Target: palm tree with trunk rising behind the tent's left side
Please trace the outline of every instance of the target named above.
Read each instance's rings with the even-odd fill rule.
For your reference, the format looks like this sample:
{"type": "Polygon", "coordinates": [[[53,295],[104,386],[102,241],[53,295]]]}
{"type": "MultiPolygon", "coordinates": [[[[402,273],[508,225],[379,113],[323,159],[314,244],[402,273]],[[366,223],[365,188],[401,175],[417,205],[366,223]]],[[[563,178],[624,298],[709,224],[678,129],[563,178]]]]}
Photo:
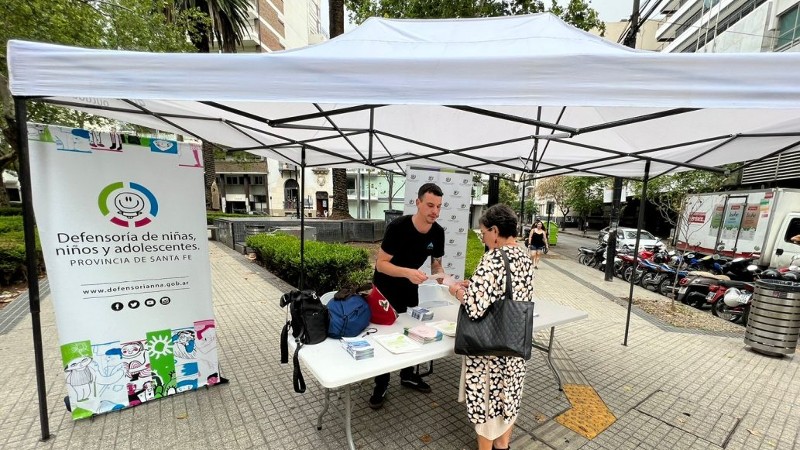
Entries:
{"type": "MultiPolygon", "coordinates": [[[[197,8],[202,13],[195,26],[197,33],[191,34],[192,44],[198,53],[211,53],[211,43],[216,42],[223,53],[236,53],[236,46],[250,27],[247,10],[248,0],[176,0],[175,8],[197,8]],[[208,17],[208,20],[204,20],[208,17]]],[[[165,10],[167,17],[170,11],[165,10]]],[[[214,161],[214,145],[203,141],[203,167],[205,167],[206,209],[211,209],[211,185],[217,177],[214,161]]]]}

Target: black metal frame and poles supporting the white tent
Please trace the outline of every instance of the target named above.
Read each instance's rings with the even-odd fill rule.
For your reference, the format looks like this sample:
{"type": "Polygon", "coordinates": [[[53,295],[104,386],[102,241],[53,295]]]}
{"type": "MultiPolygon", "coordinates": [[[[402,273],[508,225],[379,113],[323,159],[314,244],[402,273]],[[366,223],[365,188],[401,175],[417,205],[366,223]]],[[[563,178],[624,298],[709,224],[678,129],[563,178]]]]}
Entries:
{"type": "MultiPolygon", "coordinates": [[[[253,127],[251,125],[222,119],[222,118],[209,118],[204,116],[193,116],[187,114],[165,114],[165,113],[158,113],[154,111],[150,111],[147,108],[138,105],[136,102],[127,99],[120,99],[123,102],[127,103],[131,106],[130,109],[127,108],[120,108],[120,107],[110,107],[110,106],[97,106],[97,105],[87,105],[87,104],[80,104],[76,102],[70,102],[65,100],[59,100],[54,98],[48,97],[23,97],[23,96],[14,96],[14,103],[15,103],[15,114],[16,114],[16,121],[19,124],[18,128],[18,140],[19,140],[19,150],[20,150],[20,182],[21,182],[21,190],[22,190],[22,205],[23,205],[23,225],[24,225],[24,233],[25,233],[25,250],[26,250],[26,267],[28,271],[28,292],[29,292],[29,302],[30,302],[30,311],[31,311],[31,320],[33,322],[33,341],[34,341],[34,357],[36,363],[36,383],[37,383],[37,390],[39,394],[39,420],[41,425],[41,438],[42,440],[47,440],[50,436],[49,431],[49,422],[47,417],[47,399],[46,399],[46,386],[45,386],[45,378],[44,378],[44,357],[43,357],[43,350],[42,350],[42,332],[41,332],[41,319],[40,319],[40,295],[39,295],[39,285],[38,279],[35,276],[37,272],[37,255],[36,255],[36,247],[35,247],[35,234],[34,234],[34,213],[32,208],[32,198],[31,198],[31,180],[30,180],[30,162],[29,162],[29,154],[28,154],[28,141],[27,141],[27,130],[26,124],[28,119],[28,111],[27,111],[27,101],[39,101],[50,103],[57,106],[64,106],[70,108],[81,108],[84,111],[87,111],[92,114],[96,115],[103,115],[104,111],[108,112],[118,112],[118,113],[128,113],[128,114],[141,114],[146,116],[151,116],[156,118],[157,120],[161,121],[165,125],[172,127],[174,129],[178,129],[186,133],[187,135],[193,136],[197,139],[207,141],[203,138],[202,135],[198,133],[191,132],[190,130],[186,129],[185,127],[181,127],[180,125],[176,124],[171,119],[192,119],[198,121],[216,121],[226,126],[230,127],[232,130],[235,130],[237,133],[246,136],[251,141],[253,141],[253,145],[246,146],[246,147],[238,147],[238,148],[220,148],[226,152],[234,152],[234,151],[256,151],[256,150],[271,150],[275,152],[279,157],[283,158],[286,161],[290,161],[292,164],[299,166],[302,170],[302,175],[300,177],[300,189],[301,192],[305,189],[305,169],[306,168],[314,168],[314,167],[336,167],[338,163],[357,163],[368,167],[373,167],[379,170],[386,170],[398,174],[405,175],[405,172],[402,168],[402,163],[415,161],[418,162],[420,160],[429,160],[434,161],[441,165],[450,166],[452,168],[457,169],[466,169],[471,172],[488,175],[490,173],[496,173],[497,170],[491,169],[487,170],[486,166],[488,165],[490,168],[502,168],[508,172],[521,172],[523,174],[527,173],[532,175],[528,178],[522,178],[518,181],[531,181],[534,179],[542,178],[542,176],[554,176],[554,175],[569,175],[569,174],[577,174],[577,173],[585,173],[589,175],[597,175],[597,176],[613,176],[608,172],[604,172],[603,169],[614,167],[623,163],[628,163],[632,160],[641,161],[645,163],[645,170],[644,170],[644,177],[643,177],[643,186],[642,186],[642,202],[639,206],[639,220],[638,220],[638,229],[641,230],[642,224],[644,222],[644,202],[646,201],[646,187],[647,182],[650,179],[650,164],[651,162],[658,162],[658,163],[667,163],[672,166],[672,169],[668,170],[668,173],[674,171],[678,168],[687,168],[687,169],[698,169],[698,170],[706,170],[711,172],[727,172],[726,169],[721,169],[718,167],[711,167],[705,166],[701,164],[694,164],[692,161],[696,160],[700,156],[717,150],[726,144],[733,142],[737,138],[753,138],[753,137],[774,137],[774,136],[798,136],[800,137],[800,133],[748,133],[748,134],[735,134],[735,135],[722,135],[722,136],[714,136],[709,138],[704,138],[695,141],[683,142],[679,144],[674,144],[670,146],[660,147],[660,148],[650,148],[650,149],[643,149],[637,152],[632,153],[625,153],[621,151],[614,150],[612,148],[604,148],[604,147],[597,147],[597,146],[590,146],[587,144],[581,144],[577,142],[571,142],[568,140],[564,140],[563,134],[566,133],[570,137],[592,133],[601,130],[608,130],[616,127],[642,123],[651,120],[658,120],[664,117],[670,117],[675,115],[687,114],[694,111],[698,111],[696,108],[675,108],[670,110],[661,111],[658,113],[653,114],[645,114],[640,116],[633,116],[626,119],[615,120],[611,122],[604,122],[604,123],[597,123],[591,126],[585,126],[582,128],[574,128],[560,124],[561,118],[563,117],[564,111],[566,107],[563,107],[561,113],[559,114],[558,120],[556,123],[542,121],[541,117],[541,107],[539,107],[536,119],[529,119],[525,117],[515,116],[511,114],[500,113],[496,111],[491,111],[484,108],[477,108],[471,106],[456,106],[456,105],[444,105],[444,108],[450,108],[453,110],[458,110],[462,112],[467,112],[471,114],[476,114],[484,117],[493,118],[496,120],[503,120],[509,122],[515,122],[525,125],[530,125],[535,127],[535,133],[531,135],[522,135],[516,137],[509,137],[504,140],[483,143],[480,145],[474,145],[469,147],[463,148],[444,148],[441,146],[437,146],[431,143],[421,142],[415,140],[413,138],[407,136],[400,136],[394,133],[390,133],[388,131],[383,131],[380,129],[375,128],[375,115],[376,110],[380,108],[384,108],[389,105],[355,105],[355,106],[348,106],[338,109],[331,109],[331,110],[324,110],[319,104],[314,103],[313,106],[317,110],[315,113],[303,114],[303,115],[295,115],[295,116],[288,116],[288,117],[279,117],[279,118],[266,118],[256,114],[248,113],[246,111],[242,111],[240,109],[227,106],[223,103],[219,102],[212,102],[212,101],[202,101],[203,105],[218,109],[221,112],[225,112],[228,114],[234,114],[237,116],[242,117],[243,119],[253,120],[259,123],[265,124],[267,127],[271,128],[272,131],[268,129],[259,129],[253,127]],[[338,116],[355,113],[355,112],[369,112],[369,124],[363,128],[343,128],[339,127],[335,121],[338,116]],[[324,118],[330,126],[319,126],[319,125],[303,125],[303,121],[312,120],[312,119],[319,119],[324,118]],[[326,137],[317,137],[317,138],[310,138],[305,140],[296,140],[286,136],[282,136],[276,130],[280,129],[302,129],[302,130],[310,130],[310,131],[330,131],[334,134],[331,136],[326,137]],[[549,130],[549,135],[540,135],[540,130],[549,130]],[[250,132],[257,132],[262,133],[264,135],[273,137],[280,141],[283,141],[280,144],[265,144],[261,142],[255,135],[251,134],[250,132]],[[361,149],[355,145],[350,137],[357,136],[357,135],[369,135],[368,141],[368,149],[366,155],[362,152],[361,149]],[[434,154],[418,154],[412,152],[406,152],[402,154],[394,154],[389,151],[388,146],[384,142],[383,138],[390,138],[400,142],[405,142],[408,144],[418,145],[424,148],[428,148],[431,150],[435,150],[437,153],[434,154]],[[344,139],[349,146],[359,155],[359,158],[353,158],[349,156],[345,156],[331,150],[327,150],[325,148],[320,147],[320,142],[324,142],[331,139],[344,139]],[[504,144],[514,143],[514,142],[521,142],[531,140],[533,142],[531,148],[531,155],[533,158],[531,159],[531,155],[527,159],[521,159],[518,157],[510,157],[510,158],[501,158],[498,160],[489,160],[486,158],[482,158],[476,155],[472,155],[469,152],[471,150],[479,150],[479,149],[488,149],[492,147],[502,146],[504,144]],[[594,158],[588,161],[582,161],[574,164],[567,164],[567,165],[553,165],[542,162],[542,157],[547,151],[547,145],[545,145],[544,149],[542,149],[541,155],[539,154],[538,143],[539,140],[548,141],[549,144],[550,140],[572,145],[576,147],[588,148],[591,150],[596,150],[606,154],[604,157],[594,158]],[[375,159],[373,155],[373,145],[374,142],[377,141],[384,150],[388,153],[388,157],[382,157],[379,159],[375,159]],[[697,143],[704,143],[704,142],[713,142],[713,141],[720,141],[719,144],[712,147],[711,149],[706,150],[701,155],[698,155],[692,158],[690,161],[686,162],[675,162],[670,161],[662,158],[653,157],[650,154],[666,149],[672,148],[680,148],[685,147],[697,143]],[[297,160],[297,157],[294,155],[289,154],[289,150],[300,150],[300,160],[297,160]],[[286,151],[284,151],[286,150],[286,151]],[[337,163],[333,164],[307,164],[306,162],[306,152],[307,151],[314,151],[319,152],[333,158],[333,161],[337,163]],[[467,161],[472,161],[473,164],[464,164],[462,166],[457,166],[452,163],[448,163],[439,159],[440,156],[446,155],[456,155],[465,158],[467,161]],[[515,164],[516,163],[516,164],[515,164]],[[521,165],[520,165],[521,164],[521,165]],[[547,167],[540,167],[540,166],[547,166],[547,167]]],[[[797,142],[794,142],[791,145],[785,146],[781,149],[778,149],[767,156],[759,158],[757,160],[753,160],[750,162],[742,163],[738,166],[738,168],[747,167],[755,162],[761,161],[765,158],[774,156],[776,154],[782,153],[784,151],[793,149],[797,146],[800,146],[800,139],[797,142]]],[[[629,178],[632,179],[632,178],[629,178]]],[[[300,214],[300,227],[301,227],[301,245],[300,245],[300,252],[301,252],[301,276],[300,276],[300,288],[303,288],[304,278],[302,275],[304,269],[304,243],[305,243],[305,214],[300,214]]],[[[636,238],[636,248],[639,246],[639,236],[637,234],[636,238]]],[[[636,258],[638,255],[634,256],[634,263],[636,263],[636,258]]],[[[628,333],[629,333],[629,326],[630,326],[630,314],[631,314],[631,306],[633,303],[633,282],[631,281],[630,293],[628,296],[628,312],[625,321],[625,336],[623,345],[627,345],[628,343],[628,333]]]]}

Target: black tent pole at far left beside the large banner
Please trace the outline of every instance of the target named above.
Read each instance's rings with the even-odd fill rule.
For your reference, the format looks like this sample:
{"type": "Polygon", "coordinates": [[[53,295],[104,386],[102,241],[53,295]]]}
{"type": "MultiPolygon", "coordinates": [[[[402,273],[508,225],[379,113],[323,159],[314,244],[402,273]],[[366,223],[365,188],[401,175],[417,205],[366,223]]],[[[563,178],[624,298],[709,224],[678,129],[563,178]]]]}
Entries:
{"type": "Polygon", "coordinates": [[[25,97],[14,97],[19,145],[19,182],[22,196],[22,228],[25,232],[25,267],[28,271],[28,299],[33,325],[33,355],[36,365],[36,390],[39,394],[39,425],[42,440],[50,438],[50,422],[47,419],[47,388],[44,380],[44,356],[42,351],[42,324],[39,301],[39,263],[36,257],[36,220],[33,216],[31,195],[31,167],[28,159],[28,110],[25,97]]]}

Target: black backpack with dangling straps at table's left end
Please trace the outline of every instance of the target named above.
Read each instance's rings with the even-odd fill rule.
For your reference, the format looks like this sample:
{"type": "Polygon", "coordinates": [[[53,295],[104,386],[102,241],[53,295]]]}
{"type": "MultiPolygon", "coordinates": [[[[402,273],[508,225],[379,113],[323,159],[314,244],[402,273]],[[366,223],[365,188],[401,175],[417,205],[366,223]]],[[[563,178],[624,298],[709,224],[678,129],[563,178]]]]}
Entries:
{"type": "Polygon", "coordinates": [[[300,361],[297,354],[303,345],[319,344],[328,337],[328,308],[322,304],[314,291],[291,291],[281,296],[281,308],[289,306],[290,319],[281,331],[281,364],[289,362],[289,328],[292,329],[297,347],[294,350],[294,373],[292,383],[294,391],[306,391],[306,382],[300,373],[300,361]]]}

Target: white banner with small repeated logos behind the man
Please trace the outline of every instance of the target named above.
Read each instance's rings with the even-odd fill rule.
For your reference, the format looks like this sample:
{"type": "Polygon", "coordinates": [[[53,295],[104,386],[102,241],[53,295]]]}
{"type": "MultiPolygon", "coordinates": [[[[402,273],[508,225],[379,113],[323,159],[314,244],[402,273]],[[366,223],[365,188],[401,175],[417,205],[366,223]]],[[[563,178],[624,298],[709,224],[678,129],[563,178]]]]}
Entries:
{"type": "MultiPolygon", "coordinates": [[[[445,273],[456,280],[463,280],[467,258],[472,175],[464,170],[408,167],[403,214],[414,214],[417,211],[414,200],[417,198],[420,186],[425,183],[436,183],[444,194],[438,220],[439,225],[444,228],[442,266],[445,273]]],[[[430,272],[430,266],[423,265],[422,270],[430,272]]]]}

